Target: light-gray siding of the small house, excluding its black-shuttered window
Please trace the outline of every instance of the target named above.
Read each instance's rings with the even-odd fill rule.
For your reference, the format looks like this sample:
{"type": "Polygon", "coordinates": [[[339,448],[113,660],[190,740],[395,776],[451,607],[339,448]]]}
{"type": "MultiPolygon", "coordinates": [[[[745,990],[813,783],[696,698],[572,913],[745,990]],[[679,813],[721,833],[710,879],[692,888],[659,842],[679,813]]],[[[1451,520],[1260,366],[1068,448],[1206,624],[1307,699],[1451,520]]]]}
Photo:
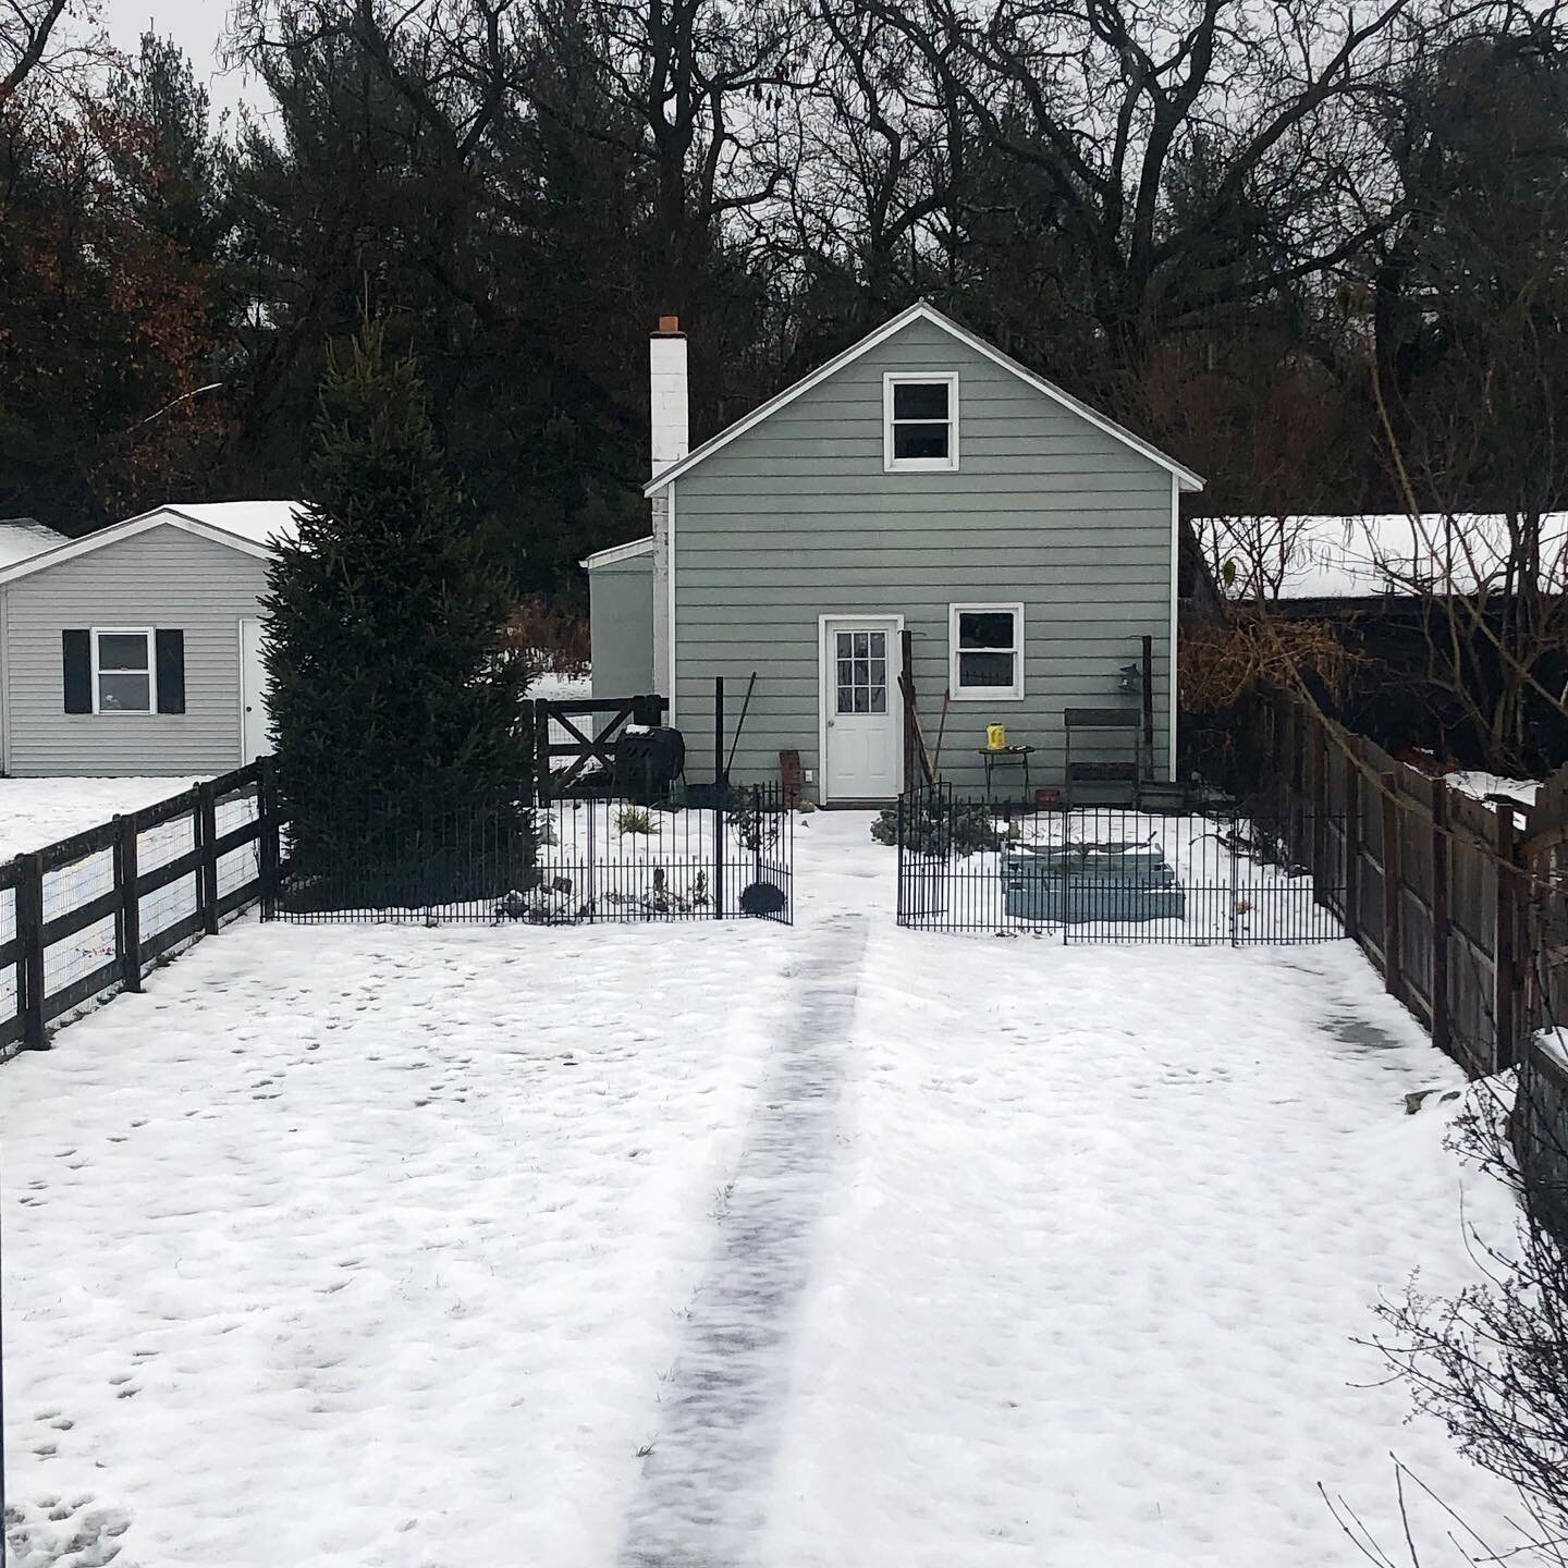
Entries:
{"type": "Polygon", "coordinates": [[[267,566],[152,528],[6,590],[6,728],[16,775],[188,775],[238,767],[240,621],[260,615],[267,566]],[[60,633],[154,626],[185,633],[183,713],[66,713],[60,633]]]}

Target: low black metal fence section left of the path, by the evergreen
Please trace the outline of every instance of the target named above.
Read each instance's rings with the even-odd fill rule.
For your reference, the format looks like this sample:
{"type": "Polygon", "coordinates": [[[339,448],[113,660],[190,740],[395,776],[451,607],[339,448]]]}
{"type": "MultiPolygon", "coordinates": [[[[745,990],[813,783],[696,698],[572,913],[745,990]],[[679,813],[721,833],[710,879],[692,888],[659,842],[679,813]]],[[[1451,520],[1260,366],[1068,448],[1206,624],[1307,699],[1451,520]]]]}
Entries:
{"type": "Polygon", "coordinates": [[[552,800],[422,817],[365,853],[285,862],[270,913],[295,922],[790,924],[795,818],[776,786],[715,804],[552,800]]]}

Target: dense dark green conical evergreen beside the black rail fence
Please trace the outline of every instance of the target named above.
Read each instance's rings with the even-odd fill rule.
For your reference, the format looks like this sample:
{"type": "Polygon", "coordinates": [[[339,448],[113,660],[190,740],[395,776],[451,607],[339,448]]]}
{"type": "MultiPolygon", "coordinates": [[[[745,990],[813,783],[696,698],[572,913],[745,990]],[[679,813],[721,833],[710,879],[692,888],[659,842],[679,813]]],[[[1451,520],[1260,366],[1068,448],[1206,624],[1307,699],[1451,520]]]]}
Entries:
{"type": "Polygon", "coordinates": [[[379,321],[329,362],[307,497],[263,601],[276,790],[301,886],[375,887],[456,862],[477,820],[525,823],[532,670],[502,646],[505,582],[379,321]]]}

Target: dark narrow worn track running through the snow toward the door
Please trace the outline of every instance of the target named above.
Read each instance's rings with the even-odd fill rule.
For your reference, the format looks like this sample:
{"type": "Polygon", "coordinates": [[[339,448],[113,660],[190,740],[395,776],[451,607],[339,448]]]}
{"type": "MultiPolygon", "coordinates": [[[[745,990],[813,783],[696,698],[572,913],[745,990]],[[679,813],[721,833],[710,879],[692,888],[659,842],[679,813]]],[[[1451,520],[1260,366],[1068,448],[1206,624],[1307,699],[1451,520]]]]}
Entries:
{"type": "Polygon", "coordinates": [[[619,1568],[734,1568],[764,1524],[864,952],[864,916],[839,916],[801,964],[800,1005],[751,1113],[619,1568]]]}

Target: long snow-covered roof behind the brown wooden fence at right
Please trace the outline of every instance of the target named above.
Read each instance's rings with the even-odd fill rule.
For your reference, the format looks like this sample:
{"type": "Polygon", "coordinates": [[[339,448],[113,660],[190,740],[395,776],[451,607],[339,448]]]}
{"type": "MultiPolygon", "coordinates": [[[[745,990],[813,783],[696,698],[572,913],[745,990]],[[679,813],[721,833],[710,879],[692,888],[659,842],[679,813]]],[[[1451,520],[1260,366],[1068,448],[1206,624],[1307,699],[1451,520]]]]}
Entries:
{"type": "MultiPolygon", "coordinates": [[[[1496,513],[1372,513],[1195,517],[1192,525],[1228,597],[1383,599],[1507,591],[1508,524],[1496,513]]],[[[1568,513],[1541,519],[1540,588],[1568,591],[1568,513]]]]}

